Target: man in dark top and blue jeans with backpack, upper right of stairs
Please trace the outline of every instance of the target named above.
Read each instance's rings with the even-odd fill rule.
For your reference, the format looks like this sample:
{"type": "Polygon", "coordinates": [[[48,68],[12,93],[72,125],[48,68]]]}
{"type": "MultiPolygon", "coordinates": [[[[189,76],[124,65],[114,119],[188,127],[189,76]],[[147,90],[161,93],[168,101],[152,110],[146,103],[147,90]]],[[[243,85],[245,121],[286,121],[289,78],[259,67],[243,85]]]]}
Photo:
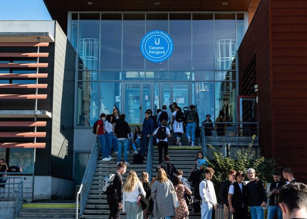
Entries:
{"type": "Polygon", "coordinates": [[[190,110],[187,113],[187,116],[185,117],[185,124],[186,124],[186,134],[189,139],[189,143],[191,142],[191,146],[194,146],[194,140],[195,140],[195,130],[196,126],[199,127],[200,119],[198,116],[198,113],[195,111],[195,106],[191,105],[190,110]],[[190,131],[192,132],[192,138],[190,137],[190,131]]]}

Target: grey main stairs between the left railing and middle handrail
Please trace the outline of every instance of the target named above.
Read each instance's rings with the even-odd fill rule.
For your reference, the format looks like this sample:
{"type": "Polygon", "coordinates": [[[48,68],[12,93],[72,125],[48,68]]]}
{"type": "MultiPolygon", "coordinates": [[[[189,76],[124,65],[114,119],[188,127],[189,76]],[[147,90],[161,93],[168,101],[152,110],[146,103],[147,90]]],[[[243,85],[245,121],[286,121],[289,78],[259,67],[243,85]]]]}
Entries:
{"type": "MultiPolygon", "coordinates": [[[[127,171],[123,175],[123,183],[125,183],[126,178],[128,176],[129,171],[135,171],[138,175],[138,177],[141,176],[142,172],[146,171],[146,161],[144,161],[144,164],[132,164],[133,162],[133,153],[132,147],[128,154],[128,162],[130,165],[127,166],[127,171]]],[[[88,219],[102,219],[102,218],[108,218],[109,215],[109,208],[106,202],[106,194],[103,194],[100,188],[100,184],[102,183],[104,177],[109,172],[116,172],[117,170],[117,154],[112,154],[112,157],[114,160],[111,161],[102,161],[102,157],[99,156],[98,163],[96,166],[96,171],[94,174],[93,182],[91,185],[91,190],[89,193],[89,196],[86,200],[85,209],[83,212],[82,218],[88,218],[88,219]]],[[[123,161],[123,154],[122,154],[122,161],[123,161]]],[[[125,215],[121,215],[120,218],[126,218],[125,215]]]]}

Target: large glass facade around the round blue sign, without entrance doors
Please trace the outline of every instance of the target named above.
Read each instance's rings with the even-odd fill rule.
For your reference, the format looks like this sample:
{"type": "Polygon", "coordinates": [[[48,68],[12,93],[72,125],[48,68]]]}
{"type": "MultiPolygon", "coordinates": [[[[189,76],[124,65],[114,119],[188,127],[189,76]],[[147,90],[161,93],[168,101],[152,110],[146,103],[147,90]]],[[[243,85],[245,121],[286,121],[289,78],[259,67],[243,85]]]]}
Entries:
{"type": "Polygon", "coordinates": [[[129,81],[155,82],[152,104],[159,108],[162,83],[186,82],[201,120],[206,114],[215,120],[223,110],[229,121],[236,121],[235,54],[244,27],[243,12],[72,13],[70,40],[78,54],[76,126],[93,126],[100,113],[121,110],[123,82],[129,81]],[[141,55],[140,41],[158,29],[170,34],[174,52],[152,63],[141,55]]]}

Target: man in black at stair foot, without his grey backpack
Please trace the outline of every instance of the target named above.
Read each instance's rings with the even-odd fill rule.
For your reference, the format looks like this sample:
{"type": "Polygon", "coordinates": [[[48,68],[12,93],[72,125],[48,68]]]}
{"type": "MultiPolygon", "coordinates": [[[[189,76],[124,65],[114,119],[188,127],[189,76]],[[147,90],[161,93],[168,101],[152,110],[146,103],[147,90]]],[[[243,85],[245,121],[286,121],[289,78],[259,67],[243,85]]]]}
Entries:
{"type": "Polygon", "coordinates": [[[118,219],[122,208],[121,201],[121,186],[123,184],[123,177],[126,173],[127,165],[124,162],[117,164],[117,171],[112,184],[111,193],[106,195],[106,201],[110,209],[109,218],[118,219]]]}

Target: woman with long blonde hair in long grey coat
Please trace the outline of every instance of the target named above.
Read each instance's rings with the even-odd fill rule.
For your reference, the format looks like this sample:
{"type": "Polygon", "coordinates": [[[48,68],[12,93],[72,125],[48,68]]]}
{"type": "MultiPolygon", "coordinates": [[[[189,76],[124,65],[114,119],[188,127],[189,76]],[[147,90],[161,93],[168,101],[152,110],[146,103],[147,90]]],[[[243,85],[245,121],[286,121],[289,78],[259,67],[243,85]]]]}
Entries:
{"type": "Polygon", "coordinates": [[[171,219],[175,214],[171,190],[174,190],[173,184],[167,178],[164,169],[159,169],[157,180],[151,186],[151,198],[153,200],[152,217],[171,219]]]}

